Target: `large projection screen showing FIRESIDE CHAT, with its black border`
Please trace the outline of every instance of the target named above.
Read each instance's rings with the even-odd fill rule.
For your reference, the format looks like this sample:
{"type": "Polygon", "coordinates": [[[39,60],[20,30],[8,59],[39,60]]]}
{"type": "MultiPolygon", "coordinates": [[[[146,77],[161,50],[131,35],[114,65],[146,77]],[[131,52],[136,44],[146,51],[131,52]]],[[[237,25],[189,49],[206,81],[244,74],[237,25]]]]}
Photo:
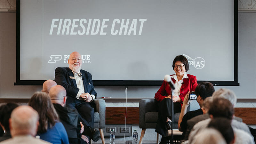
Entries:
{"type": "Polygon", "coordinates": [[[161,85],[177,55],[198,82],[239,85],[237,1],[17,1],[15,85],[54,79],[74,51],[94,85],[161,85]]]}

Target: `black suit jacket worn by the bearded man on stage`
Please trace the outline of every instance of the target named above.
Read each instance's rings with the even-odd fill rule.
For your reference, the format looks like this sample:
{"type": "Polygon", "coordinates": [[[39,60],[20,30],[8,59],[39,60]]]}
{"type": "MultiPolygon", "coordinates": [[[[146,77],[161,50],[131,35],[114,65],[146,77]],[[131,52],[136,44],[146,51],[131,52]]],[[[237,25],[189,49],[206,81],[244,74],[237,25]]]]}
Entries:
{"type": "MultiPolygon", "coordinates": [[[[94,86],[92,83],[92,75],[91,73],[85,71],[85,70],[80,70],[82,73],[82,80],[84,83],[84,92],[88,92],[90,94],[95,95],[95,99],[97,97],[97,93],[94,90],[94,86]]],[[[55,69],[55,82],[59,85],[62,85],[66,91],[67,91],[67,96],[71,99],[76,99],[76,95],[79,91],[76,85],[76,79],[70,78],[70,76],[74,77],[74,74],[71,69],[69,68],[56,68],[55,69]]]]}

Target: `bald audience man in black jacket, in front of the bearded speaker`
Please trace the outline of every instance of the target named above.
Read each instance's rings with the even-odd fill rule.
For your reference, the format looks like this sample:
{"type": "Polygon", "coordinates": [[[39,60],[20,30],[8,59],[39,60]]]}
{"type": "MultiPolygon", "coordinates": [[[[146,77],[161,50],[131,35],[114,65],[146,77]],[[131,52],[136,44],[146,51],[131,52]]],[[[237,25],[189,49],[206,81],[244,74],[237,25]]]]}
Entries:
{"type": "Polygon", "coordinates": [[[69,143],[88,144],[89,139],[81,135],[81,126],[78,126],[78,112],[76,108],[69,107],[68,105],[64,107],[66,105],[66,94],[65,88],[61,85],[53,86],[49,92],[52,104],[60,117],[60,122],[68,133],[69,143]]]}

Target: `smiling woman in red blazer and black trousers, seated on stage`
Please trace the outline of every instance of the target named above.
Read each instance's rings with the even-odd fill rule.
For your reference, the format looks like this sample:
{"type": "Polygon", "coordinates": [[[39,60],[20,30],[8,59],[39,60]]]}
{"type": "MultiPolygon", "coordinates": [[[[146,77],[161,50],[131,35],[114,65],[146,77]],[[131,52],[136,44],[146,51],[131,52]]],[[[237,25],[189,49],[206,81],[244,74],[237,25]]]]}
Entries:
{"type": "Polygon", "coordinates": [[[165,81],[155,94],[155,99],[159,101],[156,132],[162,136],[168,135],[168,129],[171,129],[171,102],[173,101],[174,114],[180,112],[185,95],[188,91],[195,91],[197,86],[196,76],[186,73],[189,69],[189,65],[188,60],[183,55],[175,57],[172,62],[172,68],[176,73],[175,75],[170,75],[175,86],[175,90],[172,92],[173,99],[171,96],[171,88],[165,81]]]}

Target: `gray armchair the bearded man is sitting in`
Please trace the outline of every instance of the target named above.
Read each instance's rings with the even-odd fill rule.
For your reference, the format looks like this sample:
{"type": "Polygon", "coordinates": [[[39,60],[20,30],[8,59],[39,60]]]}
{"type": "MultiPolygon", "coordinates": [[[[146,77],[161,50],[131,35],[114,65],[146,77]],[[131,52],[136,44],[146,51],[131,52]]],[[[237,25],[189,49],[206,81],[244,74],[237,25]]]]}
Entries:
{"type": "MultiPolygon", "coordinates": [[[[106,103],[105,100],[95,99],[93,100],[96,107],[94,109],[94,124],[93,128],[98,128],[100,131],[100,137],[103,144],[105,144],[105,138],[103,129],[106,126],[106,103]]],[[[92,141],[91,141],[92,143],[92,141]]]]}

